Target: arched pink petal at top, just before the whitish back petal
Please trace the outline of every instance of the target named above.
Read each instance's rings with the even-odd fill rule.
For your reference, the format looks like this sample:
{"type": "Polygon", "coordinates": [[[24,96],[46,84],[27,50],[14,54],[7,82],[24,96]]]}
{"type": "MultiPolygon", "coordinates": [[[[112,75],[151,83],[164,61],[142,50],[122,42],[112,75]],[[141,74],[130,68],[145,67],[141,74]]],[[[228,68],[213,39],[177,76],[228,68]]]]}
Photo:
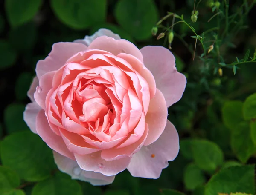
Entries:
{"type": "Polygon", "coordinates": [[[131,42],[125,39],[115,40],[107,36],[101,36],[93,40],[88,49],[100,49],[111,52],[114,55],[120,53],[131,54],[143,62],[140,50],[131,42]]]}

